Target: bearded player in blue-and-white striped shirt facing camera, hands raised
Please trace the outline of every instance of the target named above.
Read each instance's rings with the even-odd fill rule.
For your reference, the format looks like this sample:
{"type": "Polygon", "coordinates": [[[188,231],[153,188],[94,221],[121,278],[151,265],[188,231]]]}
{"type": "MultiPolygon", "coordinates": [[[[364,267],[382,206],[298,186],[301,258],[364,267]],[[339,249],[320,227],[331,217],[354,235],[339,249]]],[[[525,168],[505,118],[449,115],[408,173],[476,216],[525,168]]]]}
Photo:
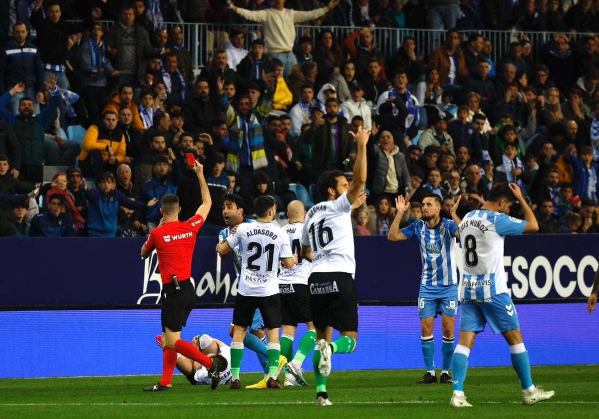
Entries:
{"type": "Polygon", "coordinates": [[[418,294],[418,314],[422,335],[422,355],[426,373],[418,384],[437,382],[435,374],[435,341],[432,327],[435,317],[441,314],[443,324],[443,366],[441,383],[452,382],[449,368],[453,356],[453,326],[458,314],[458,275],[455,265],[455,238],[459,236],[454,221],[441,218],[441,198],[429,193],[422,199],[422,219],[400,230],[400,221],[408,209],[403,196],[395,199],[397,215],[387,236],[391,241],[407,240],[413,237],[420,242],[422,259],[422,279],[418,294]]]}

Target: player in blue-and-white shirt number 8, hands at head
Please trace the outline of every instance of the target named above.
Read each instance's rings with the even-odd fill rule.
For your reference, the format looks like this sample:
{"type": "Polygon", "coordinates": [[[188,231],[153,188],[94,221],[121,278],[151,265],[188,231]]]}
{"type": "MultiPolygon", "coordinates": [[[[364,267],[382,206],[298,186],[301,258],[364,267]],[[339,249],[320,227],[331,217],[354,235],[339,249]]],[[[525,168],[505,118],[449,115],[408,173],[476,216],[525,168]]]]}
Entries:
{"type": "Polygon", "coordinates": [[[495,334],[501,333],[510,345],[512,365],[522,385],[522,402],[532,405],[553,397],[553,391],[535,387],[530,374],[530,359],[520,333],[518,313],[508,293],[503,268],[503,242],[506,235],[536,232],[539,225],[528,206],[520,187],[515,183],[498,183],[489,193],[489,199],[480,209],[468,212],[463,220],[455,214],[459,240],[462,246],[464,268],[459,300],[462,306],[459,319],[459,342],[453,353],[453,407],[470,407],[464,396],[464,380],[468,356],[476,334],[489,323],[495,334]],[[509,217],[513,202],[519,201],[524,220],[509,217]]]}

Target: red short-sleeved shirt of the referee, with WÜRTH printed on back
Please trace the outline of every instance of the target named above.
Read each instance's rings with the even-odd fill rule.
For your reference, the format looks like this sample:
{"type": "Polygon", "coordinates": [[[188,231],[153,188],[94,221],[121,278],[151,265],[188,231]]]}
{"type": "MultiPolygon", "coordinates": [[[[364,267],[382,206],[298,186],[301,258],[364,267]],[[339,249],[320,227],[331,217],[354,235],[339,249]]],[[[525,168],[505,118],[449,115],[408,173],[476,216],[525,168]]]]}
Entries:
{"type": "Polygon", "coordinates": [[[201,215],[193,215],[187,221],[171,221],[152,230],[144,247],[150,252],[156,249],[163,284],[172,283],[173,275],[179,281],[191,277],[195,239],[203,224],[201,215]]]}

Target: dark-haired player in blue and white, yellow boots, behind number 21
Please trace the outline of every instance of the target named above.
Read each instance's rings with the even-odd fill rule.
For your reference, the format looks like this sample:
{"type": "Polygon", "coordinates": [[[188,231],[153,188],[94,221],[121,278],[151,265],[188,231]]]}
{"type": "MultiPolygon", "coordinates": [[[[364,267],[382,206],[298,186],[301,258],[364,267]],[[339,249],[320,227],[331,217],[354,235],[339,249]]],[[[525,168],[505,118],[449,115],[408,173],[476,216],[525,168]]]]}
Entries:
{"type": "MultiPolygon", "coordinates": [[[[235,231],[235,227],[239,224],[253,223],[256,221],[244,217],[244,205],[245,203],[241,196],[235,195],[234,193],[225,195],[225,198],[223,199],[222,215],[226,227],[219,233],[219,242],[225,240],[232,231],[235,231]]],[[[228,255],[220,257],[225,259],[227,256],[228,255]]],[[[231,259],[233,260],[233,268],[235,269],[237,283],[239,283],[239,274],[241,272],[241,244],[238,244],[237,247],[231,251],[231,259]]],[[[231,327],[229,327],[229,336],[231,336],[231,338],[233,337],[233,330],[234,324],[231,323],[231,327]]],[[[246,388],[266,388],[266,383],[268,381],[267,343],[266,334],[264,333],[264,321],[262,320],[262,314],[260,314],[260,310],[258,309],[254,312],[252,324],[250,324],[248,332],[249,333],[246,333],[246,337],[243,339],[243,346],[244,348],[254,351],[256,356],[258,356],[258,361],[264,371],[264,378],[256,382],[256,384],[246,385],[246,388]]],[[[286,362],[287,359],[279,359],[281,365],[285,365],[286,362]]]]}

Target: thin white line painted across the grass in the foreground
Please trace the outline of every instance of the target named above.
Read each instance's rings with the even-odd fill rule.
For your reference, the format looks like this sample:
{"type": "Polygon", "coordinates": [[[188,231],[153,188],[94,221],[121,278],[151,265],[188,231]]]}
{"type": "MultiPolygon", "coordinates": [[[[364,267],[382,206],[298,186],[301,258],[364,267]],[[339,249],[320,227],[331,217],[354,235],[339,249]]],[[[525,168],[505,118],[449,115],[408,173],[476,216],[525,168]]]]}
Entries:
{"type": "MultiPolygon", "coordinates": [[[[14,406],[14,407],[28,407],[28,406],[272,406],[272,405],[313,405],[314,402],[198,402],[198,403],[177,403],[177,402],[165,402],[165,403],[0,403],[0,406],[14,406]]],[[[429,400],[397,400],[397,401],[381,401],[381,402],[353,402],[353,401],[341,401],[333,402],[334,405],[438,405],[447,404],[445,402],[433,402],[429,400]]],[[[520,405],[522,402],[473,402],[474,405],[503,405],[503,404],[517,404],[520,405]]],[[[597,405],[597,402],[586,402],[580,400],[565,401],[555,400],[549,401],[543,404],[558,404],[558,405],[597,405]]]]}

